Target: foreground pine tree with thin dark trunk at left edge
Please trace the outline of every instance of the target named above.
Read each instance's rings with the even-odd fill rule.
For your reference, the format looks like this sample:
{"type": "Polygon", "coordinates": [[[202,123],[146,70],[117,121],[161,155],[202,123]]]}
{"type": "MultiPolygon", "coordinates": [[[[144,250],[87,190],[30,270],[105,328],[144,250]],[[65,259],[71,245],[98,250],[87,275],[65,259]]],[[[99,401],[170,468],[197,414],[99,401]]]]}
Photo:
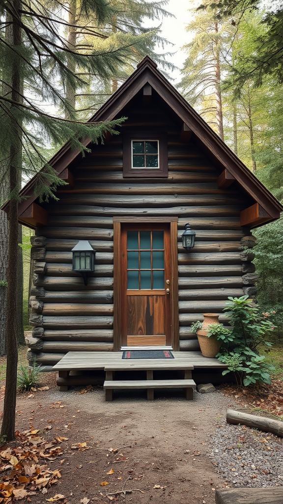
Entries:
{"type": "MultiPolygon", "coordinates": [[[[88,15],[93,0],[82,0],[81,10],[88,15]]],[[[54,1],[58,10],[61,4],[54,1]]],[[[109,12],[109,5],[104,0],[95,4],[97,15],[103,16],[109,12]]],[[[50,16],[49,8],[42,4],[34,7],[21,0],[2,2],[3,15],[9,17],[11,38],[5,34],[6,23],[0,32],[0,59],[8,62],[1,74],[2,91],[8,92],[0,96],[1,121],[0,145],[2,146],[1,161],[7,162],[9,178],[9,264],[8,264],[8,298],[7,298],[7,372],[4,400],[4,416],[0,436],[10,441],[15,436],[15,407],[17,390],[17,275],[18,269],[18,203],[20,189],[20,173],[24,171],[38,172],[35,191],[39,198],[53,197],[53,190],[62,181],[58,179],[55,170],[46,163],[43,154],[43,138],[46,142],[61,145],[69,141],[72,148],[85,150],[79,141],[89,137],[98,142],[107,131],[115,133],[114,128],[123,119],[111,123],[93,124],[75,120],[66,121],[53,117],[40,107],[48,99],[54,106],[69,108],[60,89],[58,79],[64,83],[81,81],[66,65],[67,57],[73,58],[76,65],[86,72],[95,73],[99,69],[108,70],[116,61],[116,54],[107,54],[105,61],[102,54],[70,50],[61,35],[61,19],[55,14],[50,16]],[[50,71],[50,68],[52,71],[50,71]],[[25,81],[25,88],[22,82],[25,81]],[[22,164],[22,153],[28,159],[28,166],[22,164]]],[[[54,11],[53,11],[54,12],[54,11]]],[[[72,112],[72,111],[71,111],[72,112]]]]}

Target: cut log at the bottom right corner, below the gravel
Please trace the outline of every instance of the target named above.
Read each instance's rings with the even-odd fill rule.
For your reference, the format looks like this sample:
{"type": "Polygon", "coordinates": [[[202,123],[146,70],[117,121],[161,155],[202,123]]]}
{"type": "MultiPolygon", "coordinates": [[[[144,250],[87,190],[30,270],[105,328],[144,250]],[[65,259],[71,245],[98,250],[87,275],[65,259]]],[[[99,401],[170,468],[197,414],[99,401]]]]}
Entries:
{"type": "Polygon", "coordinates": [[[216,504],[282,504],[283,488],[268,486],[263,488],[229,488],[216,490],[216,504]]]}

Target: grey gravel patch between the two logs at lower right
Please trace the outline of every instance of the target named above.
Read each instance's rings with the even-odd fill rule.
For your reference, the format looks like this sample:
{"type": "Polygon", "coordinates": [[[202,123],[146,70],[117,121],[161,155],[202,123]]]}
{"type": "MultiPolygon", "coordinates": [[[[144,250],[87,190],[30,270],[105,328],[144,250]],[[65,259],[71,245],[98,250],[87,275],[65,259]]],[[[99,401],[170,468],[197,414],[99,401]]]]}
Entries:
{"type": "Polygon", "coordinates": [[[283,486],[283,439],[245,425],[219,425],[210,458],[234,487],[283,486]]]}

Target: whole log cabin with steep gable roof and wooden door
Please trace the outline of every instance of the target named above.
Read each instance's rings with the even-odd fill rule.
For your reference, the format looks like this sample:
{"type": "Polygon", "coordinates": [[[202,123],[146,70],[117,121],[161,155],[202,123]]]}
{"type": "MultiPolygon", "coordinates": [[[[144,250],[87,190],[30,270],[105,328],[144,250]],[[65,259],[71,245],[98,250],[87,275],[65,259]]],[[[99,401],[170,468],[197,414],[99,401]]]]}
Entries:
{"type": "MultiPolygon", "coordinates": [[[[90,120],[122,116],[118,135],[84,140],[85,157],[66,144],[52,158],[67,182],[57,202],[39,203],[34,179],[21,192],[19,222],[35,230],[29,360],[46,370],[56,364],[61,390],[90,381],[71,380],[80,353],[98,359],[84,367],[97,375],[127,349],[200,359],[191,323],[203,312],[226,322],[228,296],[255,294],[251,229],[283,209],[148,56],[90,120]],[[182,244],[187,223],[190,250],[182,244]],[[87,278],[72,266],[81,240],[95,250],[87,278]],[[73,367],[57,367],[66,354],[73,367]]],[[[216,381],[217,364],[196,360],[190,369],[208,367],[216,381]]]]}

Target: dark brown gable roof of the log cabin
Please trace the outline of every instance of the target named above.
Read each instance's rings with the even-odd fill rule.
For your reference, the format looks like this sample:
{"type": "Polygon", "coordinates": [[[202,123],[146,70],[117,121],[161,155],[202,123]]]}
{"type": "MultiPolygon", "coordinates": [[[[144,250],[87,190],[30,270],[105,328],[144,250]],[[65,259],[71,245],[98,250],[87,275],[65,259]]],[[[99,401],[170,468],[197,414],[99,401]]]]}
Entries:
{"type": "MultiPolygon", "coordinates": [[[[256,227],[279,218],[283,206],[157,70],[157,65],[149,56],[146,56],[137,65],[132,75],[91,117],[89,122],[114,119],[146,84],[150,84],[164,102],[179,116],[186,129],[197,137],[206,155],[221,169],[222,173],[218,180],[219,187],[224,188],[233,181],[237,181],[243,190],[254,199],[255,204],[242,212],[241,224],[256,227]]],[[[88,146],[91,140],[87,138],[82,143],[88,146]]],[[[72,151],[68,142],[53,156],[49,164],[55,168],[58,176],[64,179],[64,170],[80,154],[79,150],[72,151]]],[[[31,209],[31,205],[37,198],[33,192],[36,176],[20,192],[20,196],[25,197],[25,199],[19,204],[19,221],[26,225],[25,216],[31,215],[28,209],[31,209]]],[[[8,212],[9,202],[2,208],[8,212]]],[[[29,222],[31,227],[36,226],[35,221],[30,220],[29,222]]]]}

